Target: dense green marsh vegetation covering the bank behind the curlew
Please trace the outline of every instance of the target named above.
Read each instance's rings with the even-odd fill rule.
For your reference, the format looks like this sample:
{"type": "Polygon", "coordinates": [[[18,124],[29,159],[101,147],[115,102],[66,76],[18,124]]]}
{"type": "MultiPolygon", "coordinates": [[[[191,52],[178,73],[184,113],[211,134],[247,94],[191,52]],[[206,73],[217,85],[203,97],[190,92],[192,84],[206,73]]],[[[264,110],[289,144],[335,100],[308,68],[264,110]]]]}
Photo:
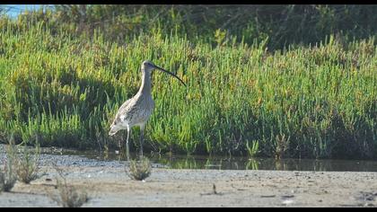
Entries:
{"type": "MultiPolygon", "coordinates": [[[[316,38],[302,31],[302,37],[286,34],[284,42],[274,43],[268,33],[257,37],[248,28],[237,31],[233,24],[229,30],[215,30],[216,22],[203,27],[189,18],[190,22],[175,25],[184,29],[166,33],[166,25],[172,26],[168,21],[175,20],[171,17],[182,16],[182,7],[180,13],[166,7],[171,16],[153,16],[149,8],[148,16],[139,11],[147,7],[134,6],[128,10],[140,14],[130,16],[133,21],[145,22],[153,16],[166,25],[154,23],[149,31],[141,27],[118,35],[124,29],[117,24],[107,31],[101,30],[110,26],[106,22],[87,28],[111,8],[87,7],[96,15],[67,22],[66,15],[77,15],[75,8],[80,9],[72,6],[26,13],[16,20],[0,18],[0,141],[13,136],[18,142],[38,141],[41,146],[116,146],[116,140],[124,137],[108,137],[110,121],[120,104],[138,90],[141,62],[150,59],[177,73],[188,87],[167,75],[153,75],[156,107],[146,128],[147,149],[278,158],[377,156],[373,24],[360,22],[356,28],[364,34],[359,36],[354,34],[357,29],[332,35],[337,32],[332,30],[340,29],[333,27],[318,32],[316,38]],[[243,39],[228,35],[232,33],[243,39]],[[298,45],[301,41],[311,44],[298,45]]],[[[363,14],[376,11],[373,6],[351,6],[345,11],[352,8],[363,14]]],[[[373,21],[376,14],[367,17],[373,21]]],[[[331,23],[338,26],[343,21],[331,23]]],[[[267,27],[267,23],[259,24],[267,27]]],[[[281,33],[294,27],[281,26],[281,33]]],[[[269,27],[274,28],[272,21],[269,27]]],[[[132,140],[137,146],[135,132],[132,140]]]]}

